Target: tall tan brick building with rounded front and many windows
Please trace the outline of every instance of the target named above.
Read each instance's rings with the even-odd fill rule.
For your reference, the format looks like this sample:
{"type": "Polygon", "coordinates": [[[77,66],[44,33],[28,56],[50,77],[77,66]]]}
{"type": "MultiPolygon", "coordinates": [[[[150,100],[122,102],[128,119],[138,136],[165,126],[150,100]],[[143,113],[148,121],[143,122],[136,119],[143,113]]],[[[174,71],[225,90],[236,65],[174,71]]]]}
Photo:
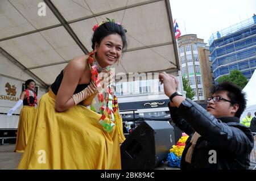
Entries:
{"type": "Polygon", "coordinates": [[[193,100],[205,100],[213,85],[209,47],[195,34],[178,39],[181,74],[195,92],[193,100]]]}

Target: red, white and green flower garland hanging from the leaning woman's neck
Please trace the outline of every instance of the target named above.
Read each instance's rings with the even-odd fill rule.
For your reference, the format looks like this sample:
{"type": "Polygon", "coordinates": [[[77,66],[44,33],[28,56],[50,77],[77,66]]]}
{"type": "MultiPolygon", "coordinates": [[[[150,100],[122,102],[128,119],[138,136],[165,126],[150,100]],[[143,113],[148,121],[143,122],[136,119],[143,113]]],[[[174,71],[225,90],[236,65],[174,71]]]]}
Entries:
{"type": "MultiPolygon", "coordinates": [[[[105,89],[103,89],[100,85],[100,78],[98,76],[99,71],[100,72],[104,70],[109,71],[110,69],[109,69],[109,66],[107,66],[106,68],[101,68],[100,65],[98,65],[98,62],[95,58],[95,52],[89,53],[88,62],[89,62],[90,71],[92,73],[92,77],[91,77],[92,81],[95,81],[98,90],[101,88],[101,90],[98,91],[98,101],[100,103],[100,113],[102,115],[99,123],[102,125],[105,131],[111,132],[115,125],[114,112],[117,110],[115,109],[115,106],[113,109],[113,105],[115,102],[113,99],[113,95],[112,95],[113,93],[112,93],[111,87],[108,86],[105,89]],[[103,95],[104,91],[106,92],[105,98],[103,95]],[[109,119],[105,120],[106,118],[109,118],[109,119]]],[[[117,98],[116,98],[116,102],[117,102],[117,98]]],[[[92,108],[92,110],[95,110],[95,108],[92,108]]]]}

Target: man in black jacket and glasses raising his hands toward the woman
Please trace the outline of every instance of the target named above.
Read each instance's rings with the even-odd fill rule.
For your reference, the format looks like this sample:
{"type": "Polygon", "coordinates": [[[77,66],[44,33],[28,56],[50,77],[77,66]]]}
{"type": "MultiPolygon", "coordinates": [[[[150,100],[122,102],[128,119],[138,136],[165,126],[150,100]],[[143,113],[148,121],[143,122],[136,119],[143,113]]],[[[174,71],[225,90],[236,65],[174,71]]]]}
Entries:
{"type": "Polygon", "coordinates": [[[173,75],[159,74],[164,93],[170,98],[171,118],[189,135],[181,157],[181,169],[248,169],[254,139],[240,124],[246,107],[245,94],[230,82],[213,87],[207,111],[179,96],[173,75]]]}

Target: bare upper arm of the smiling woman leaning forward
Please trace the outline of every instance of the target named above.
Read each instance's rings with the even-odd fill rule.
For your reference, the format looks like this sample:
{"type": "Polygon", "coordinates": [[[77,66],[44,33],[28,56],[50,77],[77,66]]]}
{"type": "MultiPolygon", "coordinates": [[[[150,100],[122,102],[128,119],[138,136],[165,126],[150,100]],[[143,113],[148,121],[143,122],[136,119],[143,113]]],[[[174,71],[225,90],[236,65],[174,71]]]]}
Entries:
{"type": "MultiPolygon", "coordinates": [[[[84,57],[76,57],[65,67],[63,71],[63,79],[60,84],[59,91],[56,96],[56,111],[62,112],[75,106],[72,95],[79,84],[80,78],[86,68],[86,60],[84,57]]],[[[89,82],[88,82],[89,83],[89,82]]]]}

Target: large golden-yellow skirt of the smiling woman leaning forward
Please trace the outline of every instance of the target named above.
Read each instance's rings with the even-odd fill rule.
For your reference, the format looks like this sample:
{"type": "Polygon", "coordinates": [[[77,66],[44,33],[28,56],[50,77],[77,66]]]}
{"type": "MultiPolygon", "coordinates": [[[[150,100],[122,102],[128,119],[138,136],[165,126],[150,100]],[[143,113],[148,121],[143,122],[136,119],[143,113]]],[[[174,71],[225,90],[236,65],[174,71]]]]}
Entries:
{"type": "Polygon", "coordinates": [[[117,128],[108,133],[101,115],[80,104],[55,111],[55,95],[44,94],[18,169],[121,169],[117,128]]]}

